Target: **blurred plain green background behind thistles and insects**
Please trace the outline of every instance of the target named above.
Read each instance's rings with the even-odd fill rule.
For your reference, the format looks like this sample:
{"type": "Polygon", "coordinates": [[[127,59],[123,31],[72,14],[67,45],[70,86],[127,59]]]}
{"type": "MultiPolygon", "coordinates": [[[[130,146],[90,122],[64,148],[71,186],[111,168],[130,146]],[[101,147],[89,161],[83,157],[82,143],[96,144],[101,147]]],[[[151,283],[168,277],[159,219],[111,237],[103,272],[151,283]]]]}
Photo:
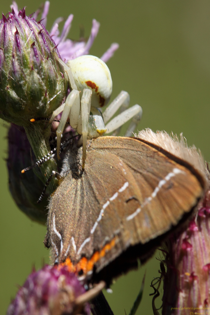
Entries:
{"type": "MultiPolygon", "coordinates": [[[[9,5],[1,4],[6,14],[9,5]]],[[[38,3],[39,5],[39,3],[38,3]]],[[[29,15],[37,9],[34,1],[21,0],[29,15]]],[[[120,44],[108,61],[113,80],[112,99],[128,91],[131,105],[140,104],[143,118],[139,130],[150,127],[180,134],[188,145],[195,144],[210,160],[210,2],[208,0],[162,1],[51,1],[47,29],[59,16],[74,14],[69,37],[79,38],[80,26],[89,36],[92,19],[101,23],[90,54],[100,57],[111,43],[120,44]]],[[[7,128],[1,129],[0,182],[0,314],[31,272],[48,262],[44,248],[45,226],[30,221],[14,204],[9,190],[5,158],[7,128]]],[[[27,166],[27,165],[26,165],[27,166]]],[[[156,257],[159,253],[156,253],[156,257]]],[[[106,297],[115,315],[128,314],[146,269],[143,301],[137,314],[152,314],[150,283],[158,276],[154,256],[136,272],[116,280],[106,297]]],[[[161,298],[156,306],[161,305],[161,298]]]]}

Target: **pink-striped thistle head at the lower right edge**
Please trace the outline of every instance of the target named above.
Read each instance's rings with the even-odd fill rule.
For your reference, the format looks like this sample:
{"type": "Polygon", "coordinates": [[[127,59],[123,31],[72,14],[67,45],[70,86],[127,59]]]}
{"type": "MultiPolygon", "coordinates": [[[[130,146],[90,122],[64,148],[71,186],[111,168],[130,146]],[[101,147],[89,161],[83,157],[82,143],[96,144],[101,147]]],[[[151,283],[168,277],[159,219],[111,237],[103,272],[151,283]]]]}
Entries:
{"type": "MultiPolygon", "coordinates": [[[[209,170],[207,170],[207,177],[209,170]]],[[[210,188],[185,230],[167,241],[162,314],[208,314],[210,309],[210,188]]]]}

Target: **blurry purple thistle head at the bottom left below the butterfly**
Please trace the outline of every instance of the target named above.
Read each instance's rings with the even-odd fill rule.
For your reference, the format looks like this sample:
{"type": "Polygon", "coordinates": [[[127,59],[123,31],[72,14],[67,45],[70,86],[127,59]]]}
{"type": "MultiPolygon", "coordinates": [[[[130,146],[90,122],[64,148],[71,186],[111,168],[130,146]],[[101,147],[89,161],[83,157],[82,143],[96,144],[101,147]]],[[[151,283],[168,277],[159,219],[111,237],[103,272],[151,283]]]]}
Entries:
{"type": "Polygon", "coordinates": [[[84,287],[73,273],[65,267],[46,265],[29,275],[7,315],[89,315],[89,305],[81,299],[84,294],[84,287]]]}

